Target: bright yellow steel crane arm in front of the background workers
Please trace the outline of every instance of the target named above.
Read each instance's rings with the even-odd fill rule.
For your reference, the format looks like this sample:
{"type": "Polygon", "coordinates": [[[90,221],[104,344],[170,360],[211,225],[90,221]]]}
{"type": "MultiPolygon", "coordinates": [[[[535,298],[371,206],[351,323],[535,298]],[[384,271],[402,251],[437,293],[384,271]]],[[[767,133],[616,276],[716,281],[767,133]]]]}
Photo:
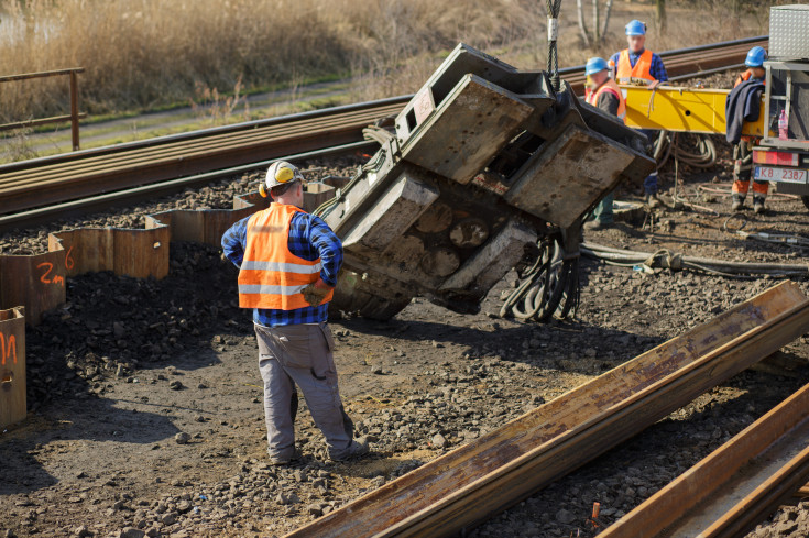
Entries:
{"type": "MultiPolygon", "coordinates": [[[[625,122],[638,129],[691,133],[725,133],[724,102],[730,90],[621,86],[626,100],[625,122]]],[[[764,97],[758,121],[745,123],[742,134],[764,136],[764,97]]]]}

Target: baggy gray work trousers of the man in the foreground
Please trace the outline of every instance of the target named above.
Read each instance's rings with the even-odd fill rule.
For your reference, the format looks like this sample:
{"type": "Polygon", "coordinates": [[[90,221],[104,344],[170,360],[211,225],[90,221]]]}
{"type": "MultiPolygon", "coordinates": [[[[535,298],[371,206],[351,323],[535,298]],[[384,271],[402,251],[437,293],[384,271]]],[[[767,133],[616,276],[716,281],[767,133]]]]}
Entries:
{"type": "Polygon", "coordinates": [[[341,459],[348,455],[354,427],[340,400],[331,354],[335,340],[328,325],[254,327],[259,341],[259,370],[264,381],[270,457],[286,459],[295,453],[295,385],[304,393],[311,418],[326,437],[329,457],[341,459]]]}

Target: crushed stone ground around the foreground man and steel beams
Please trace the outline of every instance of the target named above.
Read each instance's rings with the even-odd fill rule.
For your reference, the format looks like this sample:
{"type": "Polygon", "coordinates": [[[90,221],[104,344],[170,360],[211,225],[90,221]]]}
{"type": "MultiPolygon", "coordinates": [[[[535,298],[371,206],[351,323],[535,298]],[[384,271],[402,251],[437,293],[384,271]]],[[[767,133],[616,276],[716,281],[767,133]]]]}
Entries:
{"type": "MultiPolygon", "coordinates": [[[[313,174],[345,175],[352,165],[311,166],[321,168],[313,174]]],[[[721,193],[729,169],[726,155],[710,173],[680,167],[685,184],[678,188],[708,210],[664,207],[584,239],[806,264],[801,249],[722,229],[730,215],[721,193]]],[[[255,174],[85,221],[138,227],[155,208],[229,207],[233,194],[252,190],[255,174]]],[[[669,206],[673,188],[666,168],[663,199],[669,206]]],[[[637,200],[638,193],[627,187],[619,199],[637,200]]],[[[809,238],[809,212],[799,199],[772,197],[764,216],[743,215],[746,230],[809,238]]],[[[81,223],[20,231],[0,239],[0,246],[2,253],[34,252],[48,231],[81,223]]],[[[331,322],[341,393],[358,435],[373,441],[373,454],[326,461],[304,408],[302,461],[271,468],[255,338],[250,314],[237,308],[236,268],[218,249],[200,244],[173,243],[171,256],[163,281],[109,273],[72,278],[67,305],[29,329],[31,413],[0,435],[6,536],[283,536],[780,282],[645,274],[584,260],[573,321],[500,319],[495,312],[514,286],[513,274],[478,315],[416,298],[387,322],[343,317],[331,322]]],[[[802,386],[807,360],[809,341],[801,338],[469,536],[598,535],[802,386]],[[587,521],[593,502],[601,503],[602,527],[587,521]]],[[[807,536],[807,514],[802,503],[786,506],[750,536],[807,536]]]]}

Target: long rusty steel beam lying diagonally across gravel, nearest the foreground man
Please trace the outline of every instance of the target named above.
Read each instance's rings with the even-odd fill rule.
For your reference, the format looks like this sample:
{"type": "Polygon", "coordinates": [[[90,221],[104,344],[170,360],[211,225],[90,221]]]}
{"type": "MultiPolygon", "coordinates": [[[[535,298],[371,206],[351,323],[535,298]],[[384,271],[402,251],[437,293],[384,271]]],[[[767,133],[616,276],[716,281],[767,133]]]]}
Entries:
{"type": "Polygon", "coordinates": [[[288,537],[441,537],[474,527],[808,328],[798,286],[775,286],[288,537]]]}

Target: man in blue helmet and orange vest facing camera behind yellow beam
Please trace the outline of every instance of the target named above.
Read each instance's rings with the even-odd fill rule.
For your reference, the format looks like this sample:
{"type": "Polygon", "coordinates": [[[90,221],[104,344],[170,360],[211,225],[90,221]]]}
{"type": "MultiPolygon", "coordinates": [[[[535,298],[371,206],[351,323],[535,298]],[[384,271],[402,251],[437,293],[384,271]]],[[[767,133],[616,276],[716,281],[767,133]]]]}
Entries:
{"type": "MultiPolygon", "coordinates": [[[[638,20],[630,21],[626,24],[626,42],[628,47],[613,54],[610,58],[615,65],[615,80],[617,84],[647,86],[649,89],[655,89],[660,83],[668,80],[666,67],[663,65],[660,57],[645,47],[646,23],[638,20]]],[[[644,129],[641,132],[649,139],[649,143],[654,143],[657,131],[644,129]]],[[[646,193],[646,204],[653,208],[659,206],[657,199],[657,171],[644,179],[643,186],[646,193]]]]}

